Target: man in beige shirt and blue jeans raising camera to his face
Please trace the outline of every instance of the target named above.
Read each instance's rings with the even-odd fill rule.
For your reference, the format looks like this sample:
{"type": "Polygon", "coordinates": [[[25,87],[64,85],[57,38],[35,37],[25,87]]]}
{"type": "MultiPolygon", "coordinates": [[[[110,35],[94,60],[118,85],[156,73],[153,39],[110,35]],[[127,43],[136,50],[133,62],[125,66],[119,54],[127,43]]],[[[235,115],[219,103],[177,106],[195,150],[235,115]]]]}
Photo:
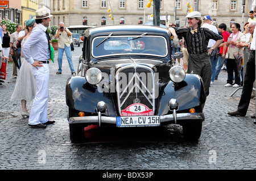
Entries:
{"type": "Polygon", "coordinates": [[[62,67],[62,58],[63,53],[65,51],[65,54],[68,59],[68,65],[71,70],[72,75],[76,75],[76,71],[73,67],[73,61],[72,61],[72,54],[71,54],[71,40],[69,36],[72,36],[72,33],[68,30],[68,28],[65,28],[65,25],[63,22],[59,24],[58,30],[56,31],[56,39],[59,39],[58,41],[58,65],[59,69],[56,72],[56,74],[61,74],[61,67],[62,67]]]}

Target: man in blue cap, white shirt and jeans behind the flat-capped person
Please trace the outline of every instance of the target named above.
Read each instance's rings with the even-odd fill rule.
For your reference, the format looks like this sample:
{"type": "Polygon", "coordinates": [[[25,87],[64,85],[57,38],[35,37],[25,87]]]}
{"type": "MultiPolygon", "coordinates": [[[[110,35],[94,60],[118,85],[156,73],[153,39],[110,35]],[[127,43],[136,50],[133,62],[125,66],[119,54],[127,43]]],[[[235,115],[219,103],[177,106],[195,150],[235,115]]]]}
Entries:
{"type": "MultiPolygon", "coordinates": [[[[203,17],[203,28],[208,28],[209,30],[212,30],[214,33],[218,34],[218,30],[216,26],[212,25],[212,18],[210,16],[206,15],[203,17]]],[[[208,50],[213,47],[213,45],[216,43],[215,40],[210,39],[208,43],[208,50]]],[[[218,59],[215,57],[215,51],[212,52],[212,55],[210,56],[210,63],[212,64],[212,76],[210,77],[210,85],[214,82],[215,72],[216,72],[216,66],[217,66],[218,59]]]]}

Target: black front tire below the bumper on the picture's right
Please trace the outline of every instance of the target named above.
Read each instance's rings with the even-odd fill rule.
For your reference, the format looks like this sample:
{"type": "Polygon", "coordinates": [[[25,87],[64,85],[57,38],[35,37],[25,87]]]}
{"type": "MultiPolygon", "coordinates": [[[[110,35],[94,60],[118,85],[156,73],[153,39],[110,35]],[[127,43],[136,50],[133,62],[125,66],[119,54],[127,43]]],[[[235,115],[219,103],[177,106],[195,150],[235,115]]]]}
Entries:
{"type": "Polygon", "coordinates": [[[183,123],[183,135],[185,141],[197,141],[199,140],[202,132],[202,122],[200,120],[188,120],[183,123]]]}

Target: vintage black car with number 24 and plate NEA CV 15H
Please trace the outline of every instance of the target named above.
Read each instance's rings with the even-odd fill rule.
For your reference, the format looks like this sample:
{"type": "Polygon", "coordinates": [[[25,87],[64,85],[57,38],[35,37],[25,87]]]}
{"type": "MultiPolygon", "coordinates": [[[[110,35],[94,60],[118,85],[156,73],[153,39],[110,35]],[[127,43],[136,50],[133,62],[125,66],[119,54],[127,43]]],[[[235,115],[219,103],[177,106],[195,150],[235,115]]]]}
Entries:
{"type": "Polygon", "coordinates": [[[81,59],[77,76],[66,85],[72,142],[85,141],[84,128],[92,124],[116,129],[180,124],[186,140],[200,138],[202,79],[172,66],[166,28],[90,28],[84,33],[81,59]]]}

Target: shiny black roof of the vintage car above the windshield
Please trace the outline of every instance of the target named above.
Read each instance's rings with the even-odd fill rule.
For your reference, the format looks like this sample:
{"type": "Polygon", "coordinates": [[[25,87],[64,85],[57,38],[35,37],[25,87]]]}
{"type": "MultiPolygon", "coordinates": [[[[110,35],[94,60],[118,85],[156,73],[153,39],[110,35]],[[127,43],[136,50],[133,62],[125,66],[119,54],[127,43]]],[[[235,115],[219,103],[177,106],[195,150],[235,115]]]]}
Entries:
{"type": "Polygon", "coordinates": [[[141,35],[147,32],[147,35],[162,35],[168,36],[169,31],[166,28],[147,26],[147,25],[111,25],[89,28],[85,31],[90,36],[108,36],[110,33],[113,35],[141,35]]]}

